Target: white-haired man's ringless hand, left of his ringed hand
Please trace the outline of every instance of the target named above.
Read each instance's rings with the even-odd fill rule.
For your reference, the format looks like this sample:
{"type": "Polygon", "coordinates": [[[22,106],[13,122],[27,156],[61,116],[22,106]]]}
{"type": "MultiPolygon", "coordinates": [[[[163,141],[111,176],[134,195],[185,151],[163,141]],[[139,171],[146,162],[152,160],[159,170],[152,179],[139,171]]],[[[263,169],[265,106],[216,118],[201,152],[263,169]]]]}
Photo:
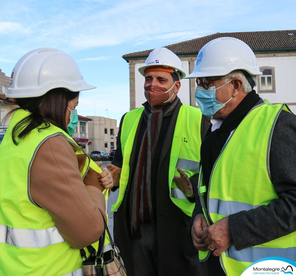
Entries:
{"type": "Polygon", "coordinates": [[[202,233],[204,232],[204,228],[206,228],[207,221],[205,219],[204,214],[198,214],[193,221],[193,225],[191,228],[191,236],[193,245],[197,250],[206,251],[207,245],[205,244],[204,238],[202,238],[202,233]]]}

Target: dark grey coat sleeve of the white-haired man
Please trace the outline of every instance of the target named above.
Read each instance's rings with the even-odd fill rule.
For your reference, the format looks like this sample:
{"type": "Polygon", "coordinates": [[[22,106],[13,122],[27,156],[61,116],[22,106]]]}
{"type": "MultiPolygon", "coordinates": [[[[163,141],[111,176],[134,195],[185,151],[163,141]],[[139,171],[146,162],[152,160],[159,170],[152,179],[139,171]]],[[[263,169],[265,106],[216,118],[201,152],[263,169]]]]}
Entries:
{"type": "Polygon", "coordinates": [[[296,115],[282,111],[271,138],[269,166],[279,198],[229,216],[237,250],[296,231],[296,115]]]}

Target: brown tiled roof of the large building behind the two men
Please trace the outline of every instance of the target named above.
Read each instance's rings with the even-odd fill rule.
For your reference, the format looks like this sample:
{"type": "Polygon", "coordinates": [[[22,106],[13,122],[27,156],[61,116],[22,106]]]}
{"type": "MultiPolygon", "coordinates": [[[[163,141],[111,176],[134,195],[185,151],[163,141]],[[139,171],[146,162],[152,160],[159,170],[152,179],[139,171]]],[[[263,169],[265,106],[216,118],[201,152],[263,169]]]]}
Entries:
{"type": "MultiPolygon", "coordinates": [[[[239,32],[239,33],[215,33],[192,40],[165,46],[177,55],[197,54],[207,42],[223,36],[238,38],[247,43],[254,52],[272,50],[295,50],[296,30],[285,31],[262,31],[262,32],[239,32]],[[293,35],[289,35],[292,34],[293,35]]],[[[147,57],[151,50],[134,52],[123,55],[124,59],[131,57],[147,57]]]]}

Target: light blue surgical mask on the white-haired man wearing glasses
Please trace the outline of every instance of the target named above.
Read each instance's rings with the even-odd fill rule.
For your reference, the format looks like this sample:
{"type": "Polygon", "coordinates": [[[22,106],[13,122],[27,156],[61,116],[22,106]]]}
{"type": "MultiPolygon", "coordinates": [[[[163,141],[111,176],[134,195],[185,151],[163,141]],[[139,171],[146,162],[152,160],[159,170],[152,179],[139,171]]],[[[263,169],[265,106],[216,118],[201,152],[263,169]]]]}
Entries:
{"type": "MultiPolygon", "coordinates": [[[[226,82],[228,84],[231,82],[226,82]]],[[[204,89],[202,86],[197,86],[195,89],[195,100],[200,107],[200,110],[203,115],[207,117],[213,116],[218,110],[224,107],[233,97],[231,97],[227,102],[218,102],[216,100],[216,90],[223,87],[224,85],[216,88],[215,86],[211,86],[208,89],[204,89]]]]}

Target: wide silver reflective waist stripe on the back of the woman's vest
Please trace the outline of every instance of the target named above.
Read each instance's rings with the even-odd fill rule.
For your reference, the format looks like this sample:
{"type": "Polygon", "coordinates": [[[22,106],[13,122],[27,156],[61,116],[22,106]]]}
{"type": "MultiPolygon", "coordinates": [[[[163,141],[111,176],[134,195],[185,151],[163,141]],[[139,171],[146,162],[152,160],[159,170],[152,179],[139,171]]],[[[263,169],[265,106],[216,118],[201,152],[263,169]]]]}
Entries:
{"type": "Polygon", "coordinates": [[[18,247],[45,247],[65,241],[57,230],[51,227],[43,230],[17,229],[0,224],[0,243],[18,247]]]}

